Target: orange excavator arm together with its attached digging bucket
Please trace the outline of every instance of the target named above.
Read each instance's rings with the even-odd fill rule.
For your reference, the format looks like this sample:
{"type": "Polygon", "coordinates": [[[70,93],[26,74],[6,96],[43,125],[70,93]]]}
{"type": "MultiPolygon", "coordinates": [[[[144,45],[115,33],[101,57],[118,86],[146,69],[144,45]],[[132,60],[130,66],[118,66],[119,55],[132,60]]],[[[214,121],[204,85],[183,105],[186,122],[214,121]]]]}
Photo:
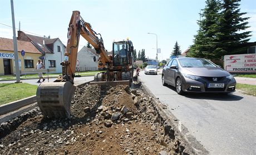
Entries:
{"type": "Polygon", "coordinates": [[[37,104],[44,116],[70,118],[70,104],[76,90],[76,87],[73,86],[73,80],[80,35],[100,54],[98,66],[108,69],[112,64],[109,56],[107,56],[102,38],[97,37],[100,34],[92,30],[91,25],[81,18],[79,11],[73,11],[68,25],[65,61],[61,63],[62,75],[54,82],[43,82],[37,88],[37,104]]]}

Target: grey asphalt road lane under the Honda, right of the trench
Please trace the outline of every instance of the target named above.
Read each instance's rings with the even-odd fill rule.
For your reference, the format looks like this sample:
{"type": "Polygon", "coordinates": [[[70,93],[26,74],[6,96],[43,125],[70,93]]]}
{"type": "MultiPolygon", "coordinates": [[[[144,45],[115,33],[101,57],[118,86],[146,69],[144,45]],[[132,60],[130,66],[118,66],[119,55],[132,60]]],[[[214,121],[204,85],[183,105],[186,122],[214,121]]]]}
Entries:
{"type": "Polygon", "coordinates": [[[161,84],[161,75],[141,71],[139,79],[210,154],[256,154],[256,97],[239,91],[181,96],[161,84]]]}

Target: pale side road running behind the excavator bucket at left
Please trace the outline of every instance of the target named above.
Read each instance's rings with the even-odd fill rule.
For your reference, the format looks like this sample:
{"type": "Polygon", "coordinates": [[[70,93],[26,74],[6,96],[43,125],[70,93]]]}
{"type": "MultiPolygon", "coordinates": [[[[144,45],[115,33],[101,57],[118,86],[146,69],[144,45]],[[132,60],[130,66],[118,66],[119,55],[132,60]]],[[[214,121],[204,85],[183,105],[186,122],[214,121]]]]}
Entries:
{"type": "MultiPolygon", "coordinates": [[[[53,82],[54,80],[56,80],[56,78],[49,78],[45,80],[45,82],[53,82]]],[[[75,86],[76,85],[80,85],[83,84],[85,82],[89,82],[93,80],[93,76],[82,76],[82,77],[75,77],[74,82],[75,82],[75,86]]],[[[37,83],[38,79],[28,79],[28,80],[21,80],[24,83],[27,84],[31,84],[31,85],[40,85],[40,83],[37,83]]],[[[42,80],[41,80],[42,81],[42,80]]],[[[0,81],[1,83],[13,83],[16,82],[16,80],[11,80],[11,81],[0,81]]]]}

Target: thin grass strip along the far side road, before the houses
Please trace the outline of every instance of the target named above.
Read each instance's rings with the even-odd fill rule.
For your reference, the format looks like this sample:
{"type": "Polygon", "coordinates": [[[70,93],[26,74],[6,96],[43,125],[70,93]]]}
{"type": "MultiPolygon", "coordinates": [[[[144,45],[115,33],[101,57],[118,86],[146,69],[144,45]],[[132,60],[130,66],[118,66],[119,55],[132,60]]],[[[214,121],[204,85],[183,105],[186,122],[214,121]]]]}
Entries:
{"type": "MultiPolygon", "coordinates": [[[[76,72],[76,75],[81,75],[81,76],[92,76],[95,75],[96,73],[101,73],[102,71],[81,71],[81,72],[76,72]]],[[[52,73],[52,74],[43,74],[44,77],[47,77],[47,75],[49,75],[49,77],[58,77],[58,75],[60,75],[61,73],[52,73]]],[[[21,79],[34,79],[37,78],[38,75],[37,74],[29,74],[29,75],[22,75],[21,79]]],[[[16,76],[13,75],[3,75],[0,76],[0,80],[14,80],[16,79],[16,76]]]]}

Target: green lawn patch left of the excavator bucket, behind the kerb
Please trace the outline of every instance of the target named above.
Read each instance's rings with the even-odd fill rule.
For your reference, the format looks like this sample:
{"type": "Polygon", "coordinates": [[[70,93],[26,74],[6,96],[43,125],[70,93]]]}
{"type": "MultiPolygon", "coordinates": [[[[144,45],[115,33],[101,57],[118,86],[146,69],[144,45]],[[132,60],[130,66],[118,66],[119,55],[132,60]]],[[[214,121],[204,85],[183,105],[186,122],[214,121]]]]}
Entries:
{"type": "Polygon", "coordinates": [[[0,84],[0,105],[36,95],[37,86],[26,83],[0,84]]]}

